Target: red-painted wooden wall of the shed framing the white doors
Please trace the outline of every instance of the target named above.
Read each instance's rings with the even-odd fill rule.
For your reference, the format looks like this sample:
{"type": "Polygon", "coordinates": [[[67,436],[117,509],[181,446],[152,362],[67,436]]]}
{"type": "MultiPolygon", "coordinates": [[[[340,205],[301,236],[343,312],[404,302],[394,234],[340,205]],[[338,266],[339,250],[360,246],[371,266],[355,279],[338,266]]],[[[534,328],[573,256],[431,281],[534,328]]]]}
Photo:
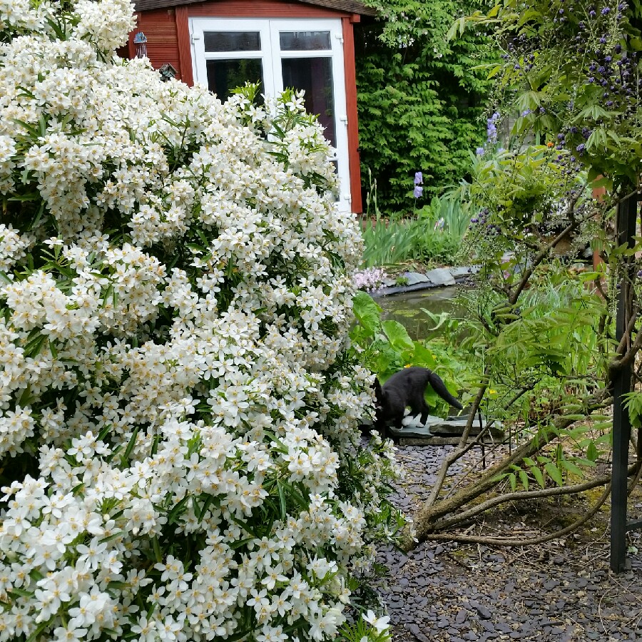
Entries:
{"type": "Polygon", "coordinates": [[[192,58],[189,19],[194,16],[238,18],[340,18],[343,26],[344,66],[348,117],[348,149],[350,154],[350,192],[352,211],[362,211],[357,117],[357,83],[355,78],[355,39],[352,25],[359,16],[342,11],[323,9],[288,0],[210,0],[171,9],[154,9],[138,14],[138,25],[129,37],[129,54],[136,56],[133,36],[143,31],[147,36],[147,55],[155,68],[170,63],[177,78],[192,85],[192,58]]]}

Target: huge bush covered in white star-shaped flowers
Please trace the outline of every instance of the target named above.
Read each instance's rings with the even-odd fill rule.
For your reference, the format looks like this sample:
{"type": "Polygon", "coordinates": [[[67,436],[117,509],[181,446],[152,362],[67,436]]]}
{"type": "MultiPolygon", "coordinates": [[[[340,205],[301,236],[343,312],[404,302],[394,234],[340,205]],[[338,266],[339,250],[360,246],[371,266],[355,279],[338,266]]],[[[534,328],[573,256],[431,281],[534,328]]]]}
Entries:
{"type": "Polygon", "coordinates": [[[114,58],[133,24],[0,0],[0,641],[384,641],[322,129],[114,58]]]}

